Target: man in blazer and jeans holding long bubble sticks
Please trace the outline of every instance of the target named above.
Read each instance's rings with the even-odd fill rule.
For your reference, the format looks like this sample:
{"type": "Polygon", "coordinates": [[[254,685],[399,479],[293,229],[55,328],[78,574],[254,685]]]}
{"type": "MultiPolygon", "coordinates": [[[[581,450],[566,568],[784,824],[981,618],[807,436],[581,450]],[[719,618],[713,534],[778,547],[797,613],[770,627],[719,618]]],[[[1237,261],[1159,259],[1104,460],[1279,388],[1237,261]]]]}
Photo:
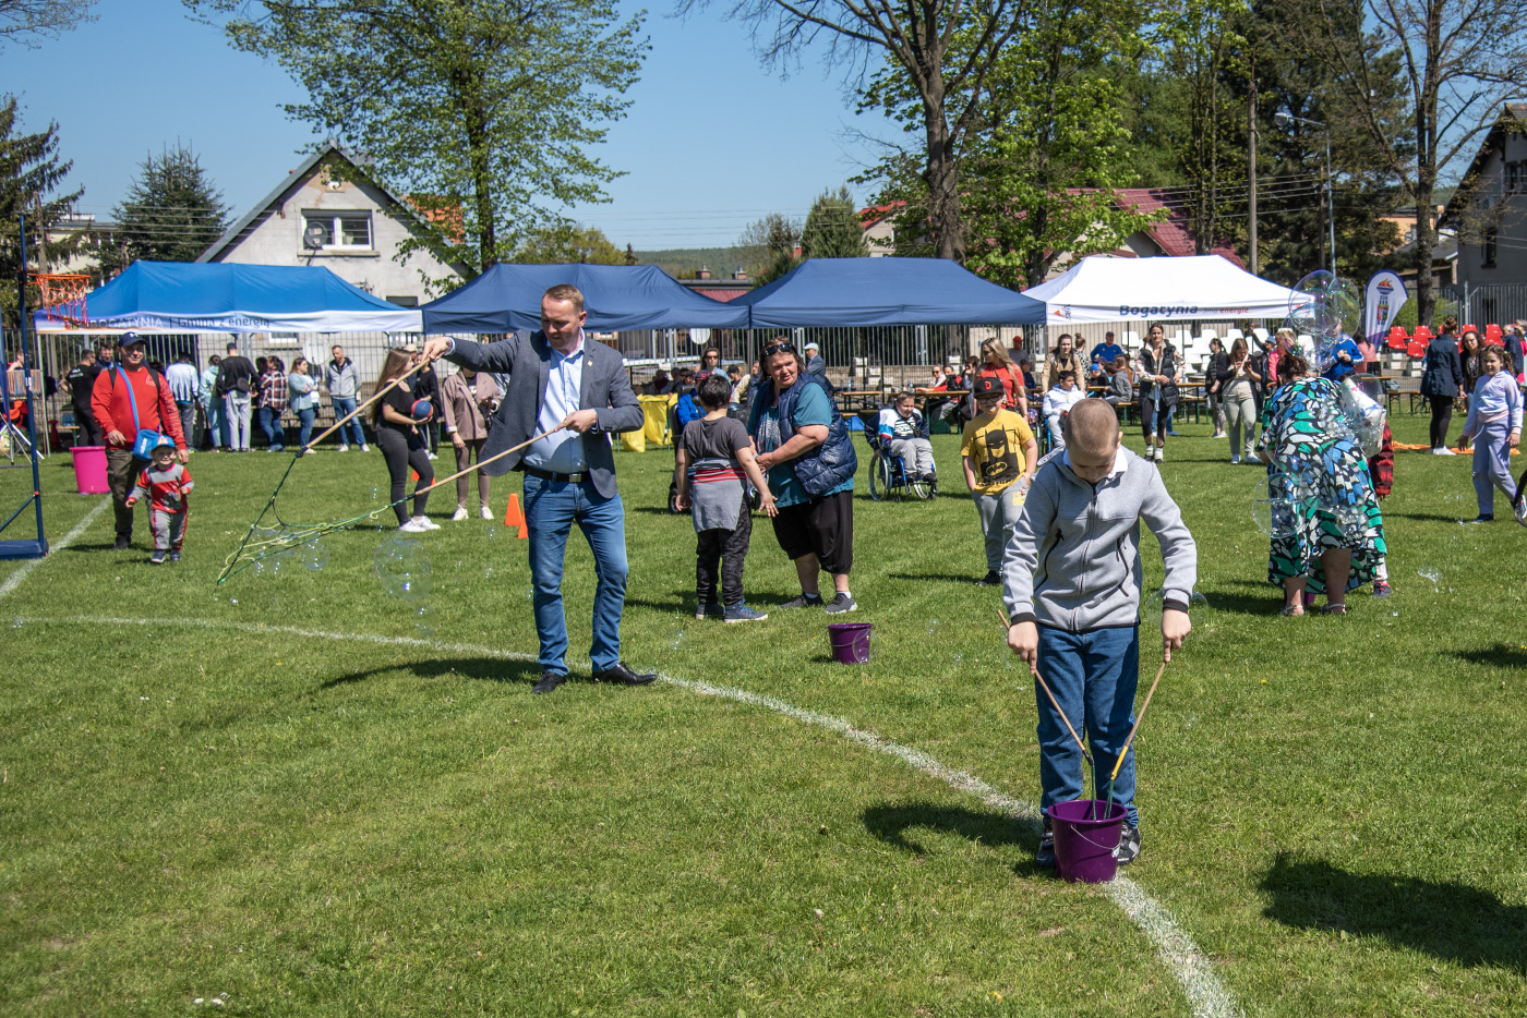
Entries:
{"type": "Polygon", "coordinates": [[[508,377],[504,400],[487,433],[484,472],[525,475],[525,525],[534,583],[541,681],[531,691],[550,693],[567,681],[567,618],[562,569],[568,533],[577,523],[594,552],[594,639],[589,659],[596,682],[646,685],[657,675],[632,672],[620,659],[620,612],[626,603],[626,510],[615,490],[615,456],[609,437],[643,426],[620,353],[583,334],[583,295],[562,284],[541,298],[541,330],[493,343],[431,339],[428,360],[447,360],[473,371],[508,377]],[[560,430],[559,430],[560,429],[560,430]],[[544,435],[524,452],[492,456],[544,435]]]}

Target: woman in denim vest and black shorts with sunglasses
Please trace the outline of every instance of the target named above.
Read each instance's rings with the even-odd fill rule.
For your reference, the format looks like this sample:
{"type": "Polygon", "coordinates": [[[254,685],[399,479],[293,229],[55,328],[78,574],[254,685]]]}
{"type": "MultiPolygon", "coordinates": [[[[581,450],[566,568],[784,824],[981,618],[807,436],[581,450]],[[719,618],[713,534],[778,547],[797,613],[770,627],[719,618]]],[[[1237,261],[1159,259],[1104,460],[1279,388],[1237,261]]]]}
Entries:
{"type": "Polygon", "coordinates": [[[806,372],[789,337],[768,340],[759,360],[767,382],[754,391],[748,433],[777,507],[774,539],[796,563],[800,580],[800,597],[780,607],[852,612],[858,607],[849,592],[858,469],[854,440],[826,382],[806,372]],[[831,601],[820,592],[823,569],[832,577],[831,601]]]}

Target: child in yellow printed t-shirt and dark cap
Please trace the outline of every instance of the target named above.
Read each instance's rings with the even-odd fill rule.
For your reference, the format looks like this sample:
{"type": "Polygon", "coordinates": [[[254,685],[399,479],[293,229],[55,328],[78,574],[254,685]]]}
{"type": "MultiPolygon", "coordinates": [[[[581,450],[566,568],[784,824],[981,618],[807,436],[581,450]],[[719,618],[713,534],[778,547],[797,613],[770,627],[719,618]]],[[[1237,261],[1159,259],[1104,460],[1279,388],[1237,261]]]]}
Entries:
{"type": "Polygon", "coordinates": [[[986,575],[977,586],[1002,585],[1002,551],[1023,511],[1023,498],[1038,466],[1038,444],[1022,414],[1005,406],[1002,380],[982,375],[973,383],[976,417],[965,424],[959,455],[965,487],[976,498],[980,536],[986,542],[986,575]]]}

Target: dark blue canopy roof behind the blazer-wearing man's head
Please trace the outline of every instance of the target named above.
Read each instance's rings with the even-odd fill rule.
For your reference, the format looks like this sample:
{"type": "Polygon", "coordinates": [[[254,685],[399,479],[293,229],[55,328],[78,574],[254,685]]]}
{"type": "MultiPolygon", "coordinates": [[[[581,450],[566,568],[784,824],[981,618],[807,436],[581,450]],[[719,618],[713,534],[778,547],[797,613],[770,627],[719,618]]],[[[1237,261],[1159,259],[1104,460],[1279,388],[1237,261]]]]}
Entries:
{"type": "MultiPolygon", "coordinates": [[[[686,288],[657,266],[493,266],[423,308],[426,333],[541,328],[541,296],[560,282],[583,292],[588,328],[747,328],[747,310],[686,288]]],[[[1043,307],[1043,305],[1041,305],[1043,307]]]]}

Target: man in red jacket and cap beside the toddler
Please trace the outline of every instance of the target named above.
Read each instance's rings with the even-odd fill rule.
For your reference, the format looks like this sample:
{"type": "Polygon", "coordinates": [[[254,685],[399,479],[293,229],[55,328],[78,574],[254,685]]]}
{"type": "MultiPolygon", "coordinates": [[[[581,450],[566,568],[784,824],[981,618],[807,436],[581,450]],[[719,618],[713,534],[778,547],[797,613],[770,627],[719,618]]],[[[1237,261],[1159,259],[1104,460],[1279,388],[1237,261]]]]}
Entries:
{"type": "Polygon", "coordinates": [[[144,366],[145,342],[137,333],[124,333],[118,340],[119,363],[98,374],[90,389],[90,409],[96,424],[105,432],[105,479],[111,488],[111,507],[116,510],[118,551],[125,549],[133,540],[133,507],[127,504],[127,496],[131,495],[137,475],[147,462],[133,458],[137,429],[147,427],[169,435],[176,443],[176,459],[183,464],[189,458],[169,382],[157,371],[144,366]],[[133,421],[134,403],[137,423],[133,421]]]}

